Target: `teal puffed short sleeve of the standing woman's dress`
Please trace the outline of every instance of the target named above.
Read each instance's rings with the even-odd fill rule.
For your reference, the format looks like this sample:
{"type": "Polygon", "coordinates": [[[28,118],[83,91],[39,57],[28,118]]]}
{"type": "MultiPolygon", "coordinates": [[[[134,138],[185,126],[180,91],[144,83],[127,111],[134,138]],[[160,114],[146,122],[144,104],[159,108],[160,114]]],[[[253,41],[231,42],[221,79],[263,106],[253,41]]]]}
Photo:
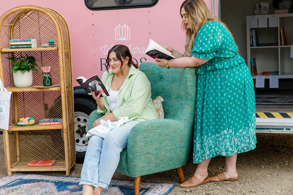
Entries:
{"type": "Polygon", "coordinates": [[[203,25],[195,38],[191,55],[201,59],[212,59],[217,56],[223,42],[222,25],[208,22],[203,25]]]}

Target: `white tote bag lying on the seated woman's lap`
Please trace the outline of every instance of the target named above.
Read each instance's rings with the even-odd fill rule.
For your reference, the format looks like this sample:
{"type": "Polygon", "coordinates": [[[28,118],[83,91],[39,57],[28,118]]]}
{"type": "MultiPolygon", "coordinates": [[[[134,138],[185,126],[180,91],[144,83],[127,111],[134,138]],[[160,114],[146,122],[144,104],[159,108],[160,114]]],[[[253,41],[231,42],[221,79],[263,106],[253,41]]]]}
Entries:
{"type": "Polygon", "coordinates": [[[86,133],[86,137],[89,137],[91,135],[98,135],[102,138],[105,138],[106,137],[106,134],[117,128],[117,127],[120,127],[121,125],[123,125],[126,121],[128,120],[128,117],[121,117],[120,120],[116,120],[116,121],[110,121],[110,120],[103,120],[101,119],[100,120],[100,125],[92,128],[91,130],[89,130],[87,133],[86,133]]]}

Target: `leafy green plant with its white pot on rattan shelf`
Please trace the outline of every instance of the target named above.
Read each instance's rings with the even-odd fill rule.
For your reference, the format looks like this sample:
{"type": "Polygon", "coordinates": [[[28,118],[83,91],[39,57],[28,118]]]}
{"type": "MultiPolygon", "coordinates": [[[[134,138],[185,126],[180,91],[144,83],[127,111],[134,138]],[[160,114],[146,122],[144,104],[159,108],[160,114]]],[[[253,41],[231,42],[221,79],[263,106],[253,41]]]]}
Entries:
{"type": "Polygon", "coordinates": [[[26,56],[16,58],[7,58],[13,62],[11,71],[13,74],[13,82],[16,87],[30,87],[33,84],[33,72],[38,72],[35,67],[38,65],[35,63],[36,59],[33,56],[26,56]]]}

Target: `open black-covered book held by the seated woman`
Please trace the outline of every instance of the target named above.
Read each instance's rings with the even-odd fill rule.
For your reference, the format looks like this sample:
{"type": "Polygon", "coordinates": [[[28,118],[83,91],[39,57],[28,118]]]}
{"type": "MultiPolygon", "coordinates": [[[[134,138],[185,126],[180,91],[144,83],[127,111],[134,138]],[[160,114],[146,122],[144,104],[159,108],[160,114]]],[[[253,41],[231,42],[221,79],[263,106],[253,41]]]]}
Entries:
{"type": "Polygon", "coordinates": [[[75,79],[81,87],[84,88],[84,90],[91,95],[91,91],[95,92],[96,96],[98,96],[99,93],[101,93],[101,96],[109,96],[109,93],[98,77],[98,75],[93,75],[86,79],[85,77],[78,77],[75,79]]]}

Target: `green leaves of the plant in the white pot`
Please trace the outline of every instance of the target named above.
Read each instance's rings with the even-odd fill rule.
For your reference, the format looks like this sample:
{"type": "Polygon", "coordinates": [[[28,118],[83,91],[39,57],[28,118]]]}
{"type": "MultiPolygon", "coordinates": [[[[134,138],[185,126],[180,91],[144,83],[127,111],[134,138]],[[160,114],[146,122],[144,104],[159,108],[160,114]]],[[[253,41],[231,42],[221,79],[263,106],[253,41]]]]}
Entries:
{"type": "Polygon", "coordinates": [[[29,72],[30,70],[38,72],[38,70],[35,69],[35,67],[38,67],[38,65],[35,63],[36,59],[33,56],[26,56],[26,58],[12,57],[7,59],[13,61],[14,63],[11,67],[11,71],[13,74],[16,73],[18,70],[21,71],[23,74],[25,73],[25,71],[29,72]]]}

